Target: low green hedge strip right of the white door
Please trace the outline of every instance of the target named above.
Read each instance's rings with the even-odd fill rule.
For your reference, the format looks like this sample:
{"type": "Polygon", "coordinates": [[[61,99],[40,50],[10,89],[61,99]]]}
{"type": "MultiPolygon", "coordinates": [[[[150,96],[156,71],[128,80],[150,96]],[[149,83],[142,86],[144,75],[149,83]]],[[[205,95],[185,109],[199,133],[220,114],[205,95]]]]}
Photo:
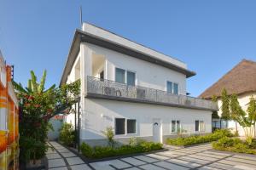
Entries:
{"type": "Polygon", "coordinates": [[[217,129],[212,134],[207,134],[205,136],[190,136],[187,138],[177,138],[177,139],[166,139],[166,144],[172,145],[191,145],[191,144],[201,144],[212,142],[223,138],[224,136],[233,136],[228,129],[217,129]]]}

